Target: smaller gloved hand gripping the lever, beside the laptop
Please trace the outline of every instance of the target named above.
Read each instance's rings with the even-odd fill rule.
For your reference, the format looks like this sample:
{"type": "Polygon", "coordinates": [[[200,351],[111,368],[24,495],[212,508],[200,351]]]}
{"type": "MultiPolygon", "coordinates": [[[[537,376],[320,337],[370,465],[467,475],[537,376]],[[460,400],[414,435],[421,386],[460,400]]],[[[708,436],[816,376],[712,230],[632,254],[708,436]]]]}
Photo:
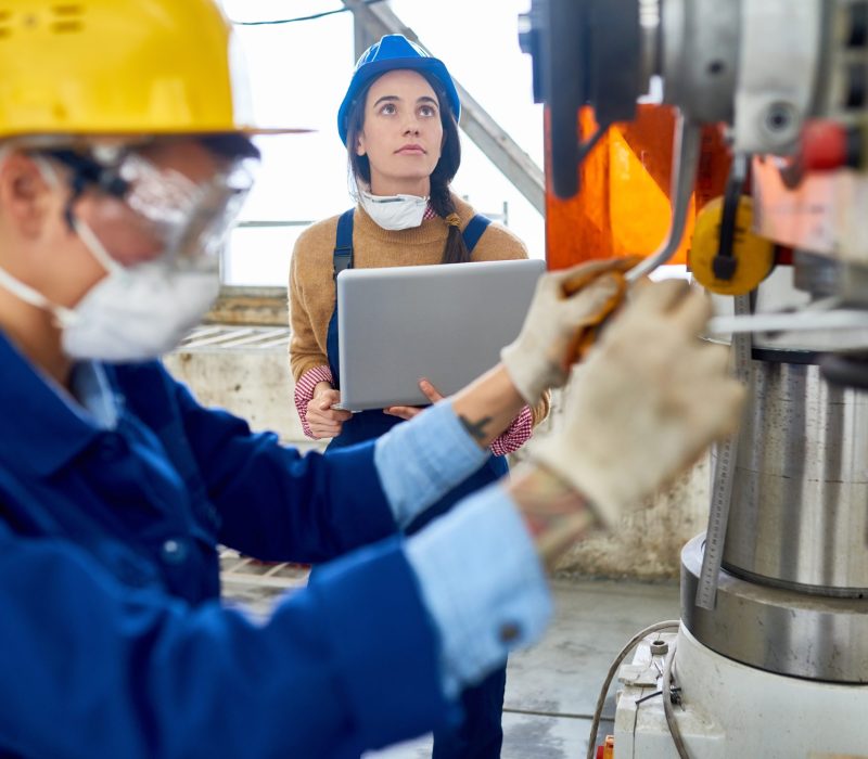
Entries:
{"type": "Polygon", "coordinates": [[[591,261],[539,279],[521,334],[500,351],[531,406],[549,387],[563,385],[584,329],[599,324],[620,303],[624,284],[615,272],[625,270],[626,260],[591,261]],[[577,292],[574,282],[580,283],[577,292]]]}

